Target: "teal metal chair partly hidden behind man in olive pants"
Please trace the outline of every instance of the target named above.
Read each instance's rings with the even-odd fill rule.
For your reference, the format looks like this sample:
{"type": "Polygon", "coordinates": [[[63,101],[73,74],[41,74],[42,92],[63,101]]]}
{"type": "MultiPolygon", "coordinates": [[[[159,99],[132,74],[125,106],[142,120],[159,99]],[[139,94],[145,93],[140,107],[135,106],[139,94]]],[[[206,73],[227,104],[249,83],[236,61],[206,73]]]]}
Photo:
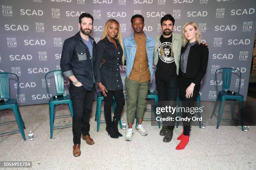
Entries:
{"type": "MultiPolygon", "coordinates": [[[[154,116],[155,116],[155,119],[154,118],[143,118],[143,120],[156,120],[156,104],[158,104],[158,101],[159,101],[159,98],[158,98],[158,94],[156,91],[154,92],[150,92],[148,91],[148,96],[147,96],[147,100],[151,100],[151,106],[153,106],[153,112],[154,112],[154,116]]],[[[145,110],[146,112],[151,112],[152,110],[150,109],[146,109],[145,110]]],[[[136,126],[135,128],[137,128],[137,125],[138,125],[138,117],[137,117],[137,113],[135,114],[135,118],[136,118],[136,126]]],[[[161,128],[161,125],[160,125],[160,121],[157,121],[157,125],[158,125],[158,128],[160,129],[161,128]]]]}

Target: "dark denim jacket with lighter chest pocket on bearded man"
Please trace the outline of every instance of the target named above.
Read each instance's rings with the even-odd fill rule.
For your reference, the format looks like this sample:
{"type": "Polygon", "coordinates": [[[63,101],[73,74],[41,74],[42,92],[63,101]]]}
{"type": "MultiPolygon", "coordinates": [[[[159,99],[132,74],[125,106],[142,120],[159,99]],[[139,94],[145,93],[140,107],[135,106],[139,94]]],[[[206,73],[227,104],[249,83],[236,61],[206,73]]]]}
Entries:
{"type": "MultiPolygon", "coordinates": [[[[79,32],[66,39],[61,52],[60,67],[66,77],[74,75],[86,90],[93,91],[94,70],[92,62],[95,58],[96,42],[92,37],[90,37],[90,40],[93,46],[93,57],[90,56],[89,49],[82,41],[79,32]]],[[[72,83],[71,80],[69,81],[72,83]]]]}

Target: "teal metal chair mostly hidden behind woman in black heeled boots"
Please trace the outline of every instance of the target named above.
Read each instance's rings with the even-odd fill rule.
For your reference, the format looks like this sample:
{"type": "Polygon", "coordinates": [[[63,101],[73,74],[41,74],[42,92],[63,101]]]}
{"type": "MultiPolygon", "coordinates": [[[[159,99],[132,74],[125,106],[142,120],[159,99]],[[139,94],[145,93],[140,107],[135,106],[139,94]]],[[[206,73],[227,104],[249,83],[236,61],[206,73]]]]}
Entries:
{"type": "MultiPolygon", "coordinates": [[[[95,112],[95,121],[97,121],[97,132],[99,132],[100,130],[100,123],[105,123],[105,120],[100,120],[100,114],[104,111],[101,111],[101,103],[102,100],[104,100],[104,97],[102,96],[102,92],[98,92],[97,93],[97,106],[96,106],[96,112],[95,112]]],[[[113,96],[113,104],[112,104],[112,108],[113,108],[113,112],[115,112],[115,97],[113,96]]],[[[119,120],[119,126],[122,129],[122,121],[121,119],[119,120]]]]}

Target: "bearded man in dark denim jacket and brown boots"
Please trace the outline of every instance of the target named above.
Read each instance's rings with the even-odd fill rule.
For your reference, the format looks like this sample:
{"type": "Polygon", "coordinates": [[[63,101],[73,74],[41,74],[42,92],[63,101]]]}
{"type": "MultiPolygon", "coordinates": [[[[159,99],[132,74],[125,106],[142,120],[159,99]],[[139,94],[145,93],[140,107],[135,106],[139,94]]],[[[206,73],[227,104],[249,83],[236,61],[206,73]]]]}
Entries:
{"type": "Polygon", "coordinates": [[[74,109],[72,131],[75,157],[81,155],[81,138],[88,145],[94,144],[89,134],[89,118],[95,90],[92,61],[95,58],[96,42],[90,36],[92,25],[92,15],[82,13],[78,23],[80,31],[64,41],[61,52],[61,70],[71,84],[69,94],[74,109]]]}

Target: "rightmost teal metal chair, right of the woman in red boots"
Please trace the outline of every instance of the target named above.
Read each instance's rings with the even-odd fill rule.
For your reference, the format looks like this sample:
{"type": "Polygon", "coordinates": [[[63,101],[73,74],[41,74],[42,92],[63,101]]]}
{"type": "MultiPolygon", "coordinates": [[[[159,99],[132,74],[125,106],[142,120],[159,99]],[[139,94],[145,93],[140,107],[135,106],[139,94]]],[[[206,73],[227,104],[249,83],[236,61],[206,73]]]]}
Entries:
{"type": "MultiPolygon", "coordinates": [[[[215,71],[215,81],[216,82],[217,82],[217,74],[219,74],[221,72],[222,72],[223,86],[222,86],[222,90],[219,91],[218,85],[216,85],[216,91],[218,92],[218,97],[216,99],[216,102],[215,102],[215,105],[214,105],[214,108],[212,111],[212,115],[210,118],[212,118],[213,115],[215,117],[217,117],[216,128],[218,129],[220,126],[220,121],[221,121],[221,117],[223,115],[223,111],[227,111],[227,110],[223,110],[225,101],[230,100],[231,101],[231,111],[229,111],[229,112],[231,112],[231,117],[233,120],[234,115],[235,115],[235,104],[236,104],[235,102],[236,102],[236,100],[238,100],[239,101],[239,110],[241,110],[241,112],[240,112],[240,114],[241,114],[241,129],[243,130],[243,118],[242,118],[243,111],[241,109],[241,108],[243,108],[243,95],[239,94],[241,81],[239,81],[238,91],[237,91],[236,95],[232,95],[232,94],[226,92],[227,90],[230,89],[231,75],[235,74],[233,72],[238,72],[239,80],[241,80],[241,72],[235,68],[229,68],[229,67],[219,68],[215,71]],[[216,107],[217,107],[218,103],[220,103],[220,106],[219,106],[218,116],[217,116],[215,114],[215,111],[216,111],[216,107]]],[[[223,119],[223,120],[228,120],[228,119],[223,119]]]]}

